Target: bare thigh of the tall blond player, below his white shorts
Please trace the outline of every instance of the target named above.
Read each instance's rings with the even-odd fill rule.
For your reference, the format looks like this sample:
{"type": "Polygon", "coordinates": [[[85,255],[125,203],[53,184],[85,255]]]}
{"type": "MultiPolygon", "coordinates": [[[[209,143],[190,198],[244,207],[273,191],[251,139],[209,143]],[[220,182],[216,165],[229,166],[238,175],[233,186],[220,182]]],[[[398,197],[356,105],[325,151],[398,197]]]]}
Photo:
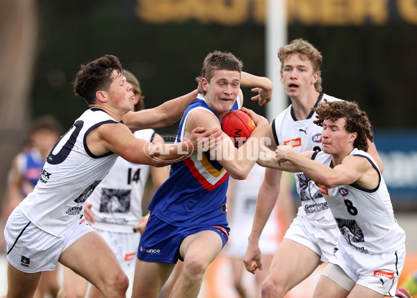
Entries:
{"type": "Polygon", "coordinates": [[[318,265],[318,254],[298,242],[284,239],[272,258],[268,279],[293,288],[316,270],[318,265]]]}

